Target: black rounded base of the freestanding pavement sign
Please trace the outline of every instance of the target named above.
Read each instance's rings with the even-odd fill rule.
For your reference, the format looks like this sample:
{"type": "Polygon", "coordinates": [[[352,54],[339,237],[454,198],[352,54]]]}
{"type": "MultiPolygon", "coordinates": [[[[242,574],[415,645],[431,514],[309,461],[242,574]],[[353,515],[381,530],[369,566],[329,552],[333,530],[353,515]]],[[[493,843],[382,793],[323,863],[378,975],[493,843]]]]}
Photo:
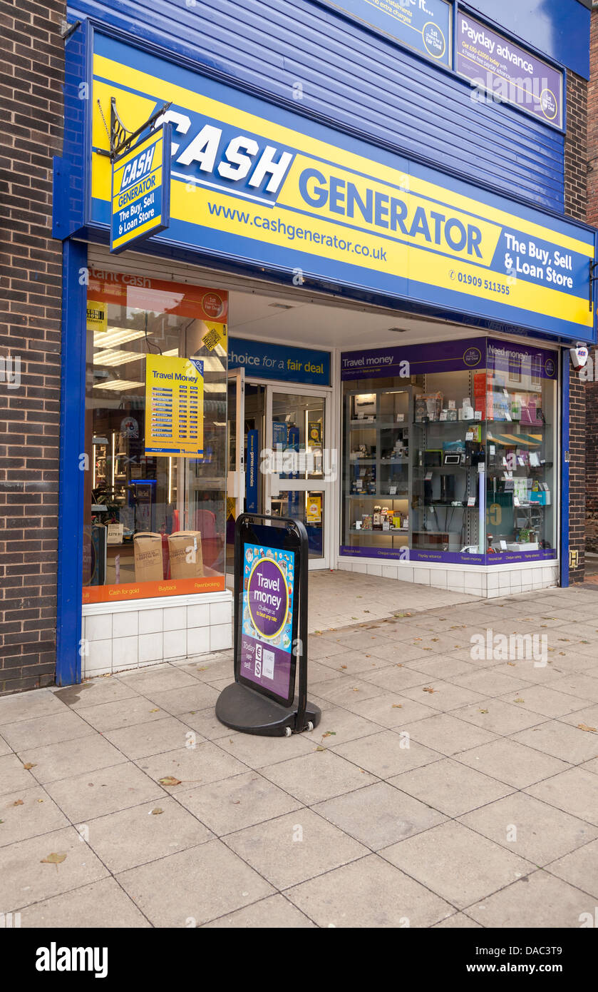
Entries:
{"type": "Polygon", "coordinates": [[[313,702],[308,702],[304,726],[296,729],[297,709],[296,699],[287,708],[241,682],[227,685],[216,702],[216,715],[221,723],[232,730],[263,737],[290,737],[293,731],[299,733],[318,726],[322,712],[313,702]]]}

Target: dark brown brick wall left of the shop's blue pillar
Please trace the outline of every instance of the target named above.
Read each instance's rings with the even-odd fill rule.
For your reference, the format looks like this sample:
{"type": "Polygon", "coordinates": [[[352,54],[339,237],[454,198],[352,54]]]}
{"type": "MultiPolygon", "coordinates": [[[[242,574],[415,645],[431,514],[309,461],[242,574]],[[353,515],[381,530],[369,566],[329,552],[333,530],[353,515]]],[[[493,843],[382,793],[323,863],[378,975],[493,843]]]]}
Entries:
{"type": "Polygon", "coordinates": [[[65,16],[62,0],[0,4],[0,694],[54,678],[65,16]]]}

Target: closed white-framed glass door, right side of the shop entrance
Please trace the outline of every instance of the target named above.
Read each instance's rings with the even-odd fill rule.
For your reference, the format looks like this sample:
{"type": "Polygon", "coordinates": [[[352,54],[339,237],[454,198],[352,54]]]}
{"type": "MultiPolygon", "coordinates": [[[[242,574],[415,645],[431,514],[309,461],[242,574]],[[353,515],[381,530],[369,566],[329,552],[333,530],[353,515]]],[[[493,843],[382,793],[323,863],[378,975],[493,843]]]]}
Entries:
{"type": "Polygon", "coordinates": [[[311,568],[330,566],[334,469],[328,464],[326,407],[327,395],[307,387],[300,393],[267,387],[266,443],[272,470],[264,476],[265,513],[305,525],[311,568]]]}

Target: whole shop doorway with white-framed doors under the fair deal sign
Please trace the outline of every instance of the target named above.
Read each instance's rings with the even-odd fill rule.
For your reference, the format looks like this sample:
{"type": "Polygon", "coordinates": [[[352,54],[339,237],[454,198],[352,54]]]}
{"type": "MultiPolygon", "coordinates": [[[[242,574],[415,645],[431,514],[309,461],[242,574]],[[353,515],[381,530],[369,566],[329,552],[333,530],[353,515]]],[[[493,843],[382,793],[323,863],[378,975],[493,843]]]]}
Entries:
{"type": "Polygon", "coordinates": [[[229,372],[228,573],[234,523],[244,511],[300,520],[310,568],[330,568],[336,481],[336,466],[329,463],[331,420],[330,390],[259,382],[242,368],[229,372]]]}

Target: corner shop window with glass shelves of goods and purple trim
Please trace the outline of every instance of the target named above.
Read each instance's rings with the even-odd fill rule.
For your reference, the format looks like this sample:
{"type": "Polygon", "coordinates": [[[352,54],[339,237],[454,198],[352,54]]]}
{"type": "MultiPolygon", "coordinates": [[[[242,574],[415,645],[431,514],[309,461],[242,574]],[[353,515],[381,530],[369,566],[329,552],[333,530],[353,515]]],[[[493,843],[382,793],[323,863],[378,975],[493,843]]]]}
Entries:
{"type": "Polygon", "coordinates": [[[342,554],[556,556],[552,352],[482,338],[346,357],[342,554]],[[401,375],[361,374],[382,360],[401,375]]]}

